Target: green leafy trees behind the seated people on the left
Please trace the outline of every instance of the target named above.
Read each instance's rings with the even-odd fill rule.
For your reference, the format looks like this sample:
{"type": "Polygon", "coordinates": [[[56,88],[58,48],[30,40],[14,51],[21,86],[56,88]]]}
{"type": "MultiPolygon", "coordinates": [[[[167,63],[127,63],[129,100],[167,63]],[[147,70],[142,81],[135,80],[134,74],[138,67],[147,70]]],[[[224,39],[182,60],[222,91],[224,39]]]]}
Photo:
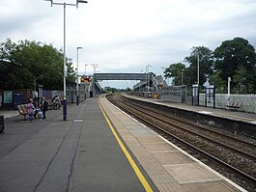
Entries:
{"type": "MultiPolygon", "coordinates": [[[[42,84],[46,90],[63,89],[63,53],[51,44],[36,41],[14,43],[8,39],[0,44],[0,60],[1,88],[34,89],[36,84],[42,84]]],[[[67,82],[71,84],[75,76],[71,62],[67,63],[67,82]]]]}

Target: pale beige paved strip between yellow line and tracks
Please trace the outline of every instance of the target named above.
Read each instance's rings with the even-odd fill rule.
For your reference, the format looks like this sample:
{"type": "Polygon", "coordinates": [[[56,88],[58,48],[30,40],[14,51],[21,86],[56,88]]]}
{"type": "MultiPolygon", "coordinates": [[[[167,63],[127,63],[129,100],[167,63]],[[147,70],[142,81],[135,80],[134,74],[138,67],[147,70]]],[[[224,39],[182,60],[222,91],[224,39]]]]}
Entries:
{"type": "Polygon", "coordinates": [[[132,119],[105,98],[100,98],[100,103],[159,191],[245,191],[132,119]]]}

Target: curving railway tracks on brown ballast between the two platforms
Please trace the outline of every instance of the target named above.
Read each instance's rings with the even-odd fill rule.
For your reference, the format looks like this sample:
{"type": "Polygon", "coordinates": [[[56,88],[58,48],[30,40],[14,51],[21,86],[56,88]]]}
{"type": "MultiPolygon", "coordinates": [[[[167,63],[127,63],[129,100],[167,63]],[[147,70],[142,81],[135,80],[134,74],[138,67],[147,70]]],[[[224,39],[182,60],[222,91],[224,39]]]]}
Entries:
{"type": "Polygon", "coordinates": [[[122,110],[142,123],[147,123],[157,132],[183,150],[188,151],[206,164],[237,182],[248,191],[256,188],[255,144],[221,134],[181,118],[171,117],[164,111],[150,106],[143,106],[136,100],[112,95],[107,98],[122,110]]]}

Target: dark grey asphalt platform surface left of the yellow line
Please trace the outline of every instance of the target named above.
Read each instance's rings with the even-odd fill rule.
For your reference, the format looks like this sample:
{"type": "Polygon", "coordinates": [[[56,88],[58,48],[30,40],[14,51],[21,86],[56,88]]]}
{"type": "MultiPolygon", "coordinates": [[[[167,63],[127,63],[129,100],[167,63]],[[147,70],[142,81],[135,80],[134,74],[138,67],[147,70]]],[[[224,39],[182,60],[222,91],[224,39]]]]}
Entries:
{"type": "Polygon", "coordinates": [[[62,110],[49,110],[43,122],[15,116],[5,124],[0,135],[1,192],[145,191],[98,98],[69,105],[66,122],[62,110]]]}

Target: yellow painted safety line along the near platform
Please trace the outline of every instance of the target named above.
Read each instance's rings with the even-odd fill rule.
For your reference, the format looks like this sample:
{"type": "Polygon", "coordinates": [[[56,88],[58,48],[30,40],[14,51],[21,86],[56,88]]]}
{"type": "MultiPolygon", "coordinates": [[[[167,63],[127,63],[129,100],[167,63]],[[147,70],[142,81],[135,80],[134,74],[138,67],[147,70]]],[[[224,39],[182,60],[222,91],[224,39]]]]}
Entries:
{"type": "MultiPolygon", "coordinates": [[[[100,105],[100,103],[99,103],[100,105]]],[[[113,128],[112,124],[110,123],[109,119],[107,118],[105,112],[103,111],[101,105],[100,105],[100,110],[106,120],[106,122],[108,123],[109,128],[111,129],[113,135],[115,136],[119,146],[121,147],[122,151],[124,151],[125,155],[128,158],[128,162],[131,165],[133,171],[135,172],[136,176],[139,178],[141,184],[143,185],[143,187],[145,188],[145,190],[147,192],[153,192],[150,184],[148,183],[148,181],[146,180],[146,178],[144,178],[144,176],[142,175],[142,173],[140,172],[138,166],[135,164],[135,162],[133,161],[132,157],[130,156],[130,154],[128,153],[128,150],[126,149],[125,145],[123,144],[123,142],[121,141],[121,139],[119,138],[118,134],[116,133],[115,129],[113,128]]]]}

